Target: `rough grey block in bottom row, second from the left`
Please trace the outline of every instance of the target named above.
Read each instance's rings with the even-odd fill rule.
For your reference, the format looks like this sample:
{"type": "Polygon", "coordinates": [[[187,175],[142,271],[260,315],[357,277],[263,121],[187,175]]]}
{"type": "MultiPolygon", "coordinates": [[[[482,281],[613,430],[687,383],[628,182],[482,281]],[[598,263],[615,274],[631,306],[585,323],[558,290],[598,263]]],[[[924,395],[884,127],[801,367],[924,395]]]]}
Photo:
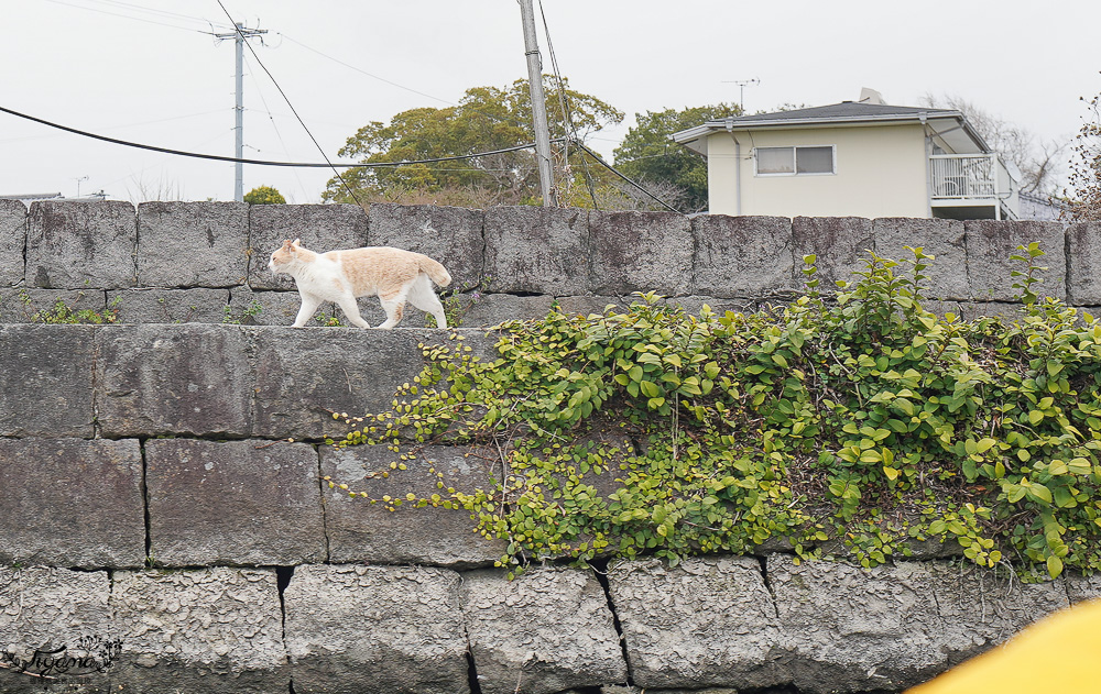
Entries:
{"type": "Polygon", "coordinates": [[[112,691],[274,694],[291,685],[274,570],[119,571],[112,691]]]}

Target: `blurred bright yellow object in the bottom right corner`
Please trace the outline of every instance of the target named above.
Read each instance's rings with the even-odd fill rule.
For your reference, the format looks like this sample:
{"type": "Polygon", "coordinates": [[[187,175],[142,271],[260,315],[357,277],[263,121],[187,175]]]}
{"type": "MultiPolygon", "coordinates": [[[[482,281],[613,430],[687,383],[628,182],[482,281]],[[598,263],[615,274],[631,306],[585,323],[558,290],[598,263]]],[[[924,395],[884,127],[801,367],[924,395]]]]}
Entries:
{"type": "Polygon", "coordinates": [[[906,694],[1099,694],[1101,601],[1060,610],[906,694]]]}

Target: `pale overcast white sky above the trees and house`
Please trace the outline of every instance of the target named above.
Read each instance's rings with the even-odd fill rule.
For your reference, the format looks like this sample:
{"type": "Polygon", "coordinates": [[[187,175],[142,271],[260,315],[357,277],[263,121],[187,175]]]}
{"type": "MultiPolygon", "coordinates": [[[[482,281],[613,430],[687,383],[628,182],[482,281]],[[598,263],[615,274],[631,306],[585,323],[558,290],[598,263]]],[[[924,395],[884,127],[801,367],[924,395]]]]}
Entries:
{"type": "MultiPolygon", "coordinates": [[[[265,29],[260,59],[330,158],[370,121],[445,107],[526,77],[515,0],[222,0],[265,29]],[[325,54],[351,67],[323,57],[325,54]]],[[[889,103],[958,95],[1032,131],[1073,137],[1101,91],[1097,0],[542,0],[570,85],[625,112],[595,135],[609,161],[634,114],[737,101],[889,103]]],[[[539,0],[535,0],[539,16],[539,0]]],[[[233,45],[217,0],[0,0],[0,106],[164,147],[233,154],[233,45]],[[139,21],[143,20],[143,21],[139,21]]],[[[541,21],[542,24],[542,21],[541,21]]],[[[539,27],[544,71],[547,37],[539,27]]],[[[244,156],[324,161],[246,51],[244,156]]],[[[1069,159],[1069,151],[1064,159],[1069,159]]],[[[331,173],[246,166],[244,190],[317,202],[331,173]]],[[[0,195],[231,200],[233,165],[96,142],[0,112],[0,195]],[[86,180],[77,179],[87,177],[86,180]]]]}

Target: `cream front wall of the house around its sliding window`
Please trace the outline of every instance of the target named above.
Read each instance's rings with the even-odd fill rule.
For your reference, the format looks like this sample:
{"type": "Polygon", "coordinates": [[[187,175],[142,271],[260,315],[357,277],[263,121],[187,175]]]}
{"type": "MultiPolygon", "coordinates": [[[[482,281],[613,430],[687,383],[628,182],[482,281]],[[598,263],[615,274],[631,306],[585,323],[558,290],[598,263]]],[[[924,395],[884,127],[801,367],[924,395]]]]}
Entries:
{"type": "Polygon", "coordinates": [[[707,158],[712,214],[929,217],[925,133],[917,124],[722,132],[708,137],[707,158]],[[754,175],[754,147],[825,145],[836,147],[835,174],[754,175]]]}

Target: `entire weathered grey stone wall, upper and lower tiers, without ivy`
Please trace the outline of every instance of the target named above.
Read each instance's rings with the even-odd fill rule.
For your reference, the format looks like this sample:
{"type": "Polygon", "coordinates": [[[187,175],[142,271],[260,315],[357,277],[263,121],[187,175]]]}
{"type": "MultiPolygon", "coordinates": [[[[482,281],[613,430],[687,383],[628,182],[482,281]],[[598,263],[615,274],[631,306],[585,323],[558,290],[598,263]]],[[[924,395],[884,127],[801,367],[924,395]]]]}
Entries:
{"type": "Polygon", "coordinates": [[[333,411],[389,408],[419,372],[422,344],[455,335],[489,354],[491,335],[210,324],[226,307],[286,296],[257,258],[292,235],[318,249],[428,251],[460,283],[489,278],[492,301],[471,315],[495,301],[503,313],[487,310],[490,321],[537,315],[550,297],[599,310],[650,288],[685,302],[767,300],[796,286],[804,253],[839,276],[861,246],[890,254],[904,243],[941,256],[933,282],[945,300],[972,300],[985,285],[992,300],[1012,298],[998,284],[1004,258],[1040,240],[1058,278],[1048,288],[1101,302],[1087,265],[1094,227],[0,206],[0,293],[100,308],[149,297],[144,318],[123,310],[135,323],[184,321],[172,311],[196,307],[187,324],[11,313],[0,324],[4,693],[897,692],[1101,595],[1097,577],[1022,585],[936,547],[871,571],[762,549],[672,569],[547,565],[510,582],[493,568],[502,546],[473,533],[465,513],[390,513],[319,480],[423,495],[433,461],[449,486],[484,485],[495,463],[484,451],[429,447],[383,480],[370,473],[393,461],[385,447],[321,441],[344,431],[333,411]]]}

